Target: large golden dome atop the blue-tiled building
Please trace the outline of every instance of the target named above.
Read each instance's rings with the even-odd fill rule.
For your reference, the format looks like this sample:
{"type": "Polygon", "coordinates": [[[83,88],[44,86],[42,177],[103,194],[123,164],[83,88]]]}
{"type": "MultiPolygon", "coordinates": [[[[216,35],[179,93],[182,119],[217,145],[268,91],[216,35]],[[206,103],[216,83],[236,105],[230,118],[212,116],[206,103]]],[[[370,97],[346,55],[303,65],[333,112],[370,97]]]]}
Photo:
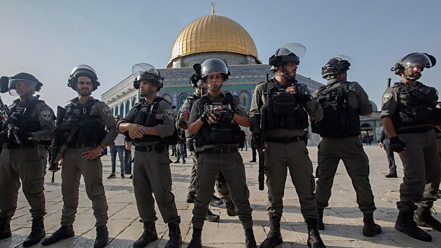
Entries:
{"type": "Polygon", "coordinates": [[[256,45],[245,28],[220,15],[203,16],[188,24],[174,41],[167,68],[178,57],[200,52],[234,52],[257,58],[256,45]]]}

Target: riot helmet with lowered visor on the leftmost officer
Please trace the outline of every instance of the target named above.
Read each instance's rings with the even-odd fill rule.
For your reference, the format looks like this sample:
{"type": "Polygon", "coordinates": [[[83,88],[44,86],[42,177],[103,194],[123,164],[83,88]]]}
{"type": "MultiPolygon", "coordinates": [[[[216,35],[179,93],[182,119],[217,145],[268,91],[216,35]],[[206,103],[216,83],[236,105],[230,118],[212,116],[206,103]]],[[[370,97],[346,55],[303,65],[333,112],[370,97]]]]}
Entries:
{"type": "Polygon", "coordinates": [[[13,96],[30,96],[40,91],[43,84],[33,75],[20,72],[8,80],[8,91],[13,96]]]}

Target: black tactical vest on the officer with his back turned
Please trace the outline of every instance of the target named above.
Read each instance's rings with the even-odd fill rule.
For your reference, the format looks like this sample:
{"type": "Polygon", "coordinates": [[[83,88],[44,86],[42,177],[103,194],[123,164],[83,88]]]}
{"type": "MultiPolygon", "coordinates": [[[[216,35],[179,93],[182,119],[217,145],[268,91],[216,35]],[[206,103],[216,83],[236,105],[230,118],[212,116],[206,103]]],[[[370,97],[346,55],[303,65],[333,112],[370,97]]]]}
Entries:
{"type": "Polygon", "coordinates": [[[319,88],[316,99],[323,109],[323,118],[311,122],[311,131],[322,137],[350,137],[361,134],[360,114],[352,109],[347,101],[349,82],[340,83],[341,87],[319,88]]]}

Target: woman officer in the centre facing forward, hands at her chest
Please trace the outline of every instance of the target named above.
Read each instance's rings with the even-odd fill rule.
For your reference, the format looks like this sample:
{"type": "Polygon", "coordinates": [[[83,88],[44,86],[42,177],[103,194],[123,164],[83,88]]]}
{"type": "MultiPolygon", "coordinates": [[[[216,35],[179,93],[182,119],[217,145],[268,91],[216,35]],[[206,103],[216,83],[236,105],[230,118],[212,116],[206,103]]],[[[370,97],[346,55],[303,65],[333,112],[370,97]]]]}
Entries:
{"type": "Polygon", "coordinates": [[[221,59],[212,58],[201,64],[200,75],[208,89],[193,104],[188,120],[189,135],[196,135],[198,153],[196,199],[193,209],[193,237],[189,248],[201,247],[201,232],[208,204],[213,197],[216,177],[221,172],[228,184],[236,213],[245,229],[246,247],[257,247],[246,185],[245,165],[238,146],[245,141],[239,125],[248,127],[249,118],[238,97],[221,91],[230,74],[221,59]]]}

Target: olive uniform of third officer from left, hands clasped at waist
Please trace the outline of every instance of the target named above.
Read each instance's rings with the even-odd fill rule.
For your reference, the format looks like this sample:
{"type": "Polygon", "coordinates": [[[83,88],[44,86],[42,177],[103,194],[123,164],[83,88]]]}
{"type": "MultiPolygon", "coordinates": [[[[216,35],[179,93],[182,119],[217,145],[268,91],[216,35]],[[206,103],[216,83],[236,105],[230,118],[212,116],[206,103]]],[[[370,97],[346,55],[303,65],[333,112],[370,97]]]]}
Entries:
{"type": "MultiPolygon", "coordinates": [[[[145,102],[145,98],[141,99],[140,102],[145,102]]],[[[133,123],[135,108],[136,105],[120,123],[133,123]]],[[[172,106],[169,102],[164,100],[159,102],[157,115],[162,114],[164,116],[164,123],[153,128],[161,138],[173,135],[174,115],[172,113],[172,106]]],[[[135,149],[133,188],[139,216],[143,223],[154,223],[158,219],[155,211],[156,200],[164,222],[179,225],[181,220],[172,193],[168,145],[162,145],[163,149],[161,151],[157,151],[155,145],[158,145],[157,141],[135,142],[135,147],[132,147],[132,149],[135,149]],[[147,147],[149,147],[148,151],[147,147]]]]}

